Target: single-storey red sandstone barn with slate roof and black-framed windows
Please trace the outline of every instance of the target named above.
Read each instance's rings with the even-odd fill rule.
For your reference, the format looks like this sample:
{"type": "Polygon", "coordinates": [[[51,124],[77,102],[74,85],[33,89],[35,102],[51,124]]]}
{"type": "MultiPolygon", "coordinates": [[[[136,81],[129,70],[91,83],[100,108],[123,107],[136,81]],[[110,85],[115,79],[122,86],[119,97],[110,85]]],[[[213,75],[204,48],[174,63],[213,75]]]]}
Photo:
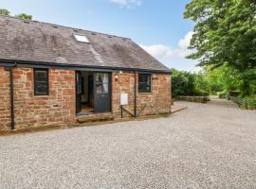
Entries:
{"type": "Polygon", "coordinates": [[[0,16],[0,129],[170,112],[170,70],[131,39],[0,16]]]}

